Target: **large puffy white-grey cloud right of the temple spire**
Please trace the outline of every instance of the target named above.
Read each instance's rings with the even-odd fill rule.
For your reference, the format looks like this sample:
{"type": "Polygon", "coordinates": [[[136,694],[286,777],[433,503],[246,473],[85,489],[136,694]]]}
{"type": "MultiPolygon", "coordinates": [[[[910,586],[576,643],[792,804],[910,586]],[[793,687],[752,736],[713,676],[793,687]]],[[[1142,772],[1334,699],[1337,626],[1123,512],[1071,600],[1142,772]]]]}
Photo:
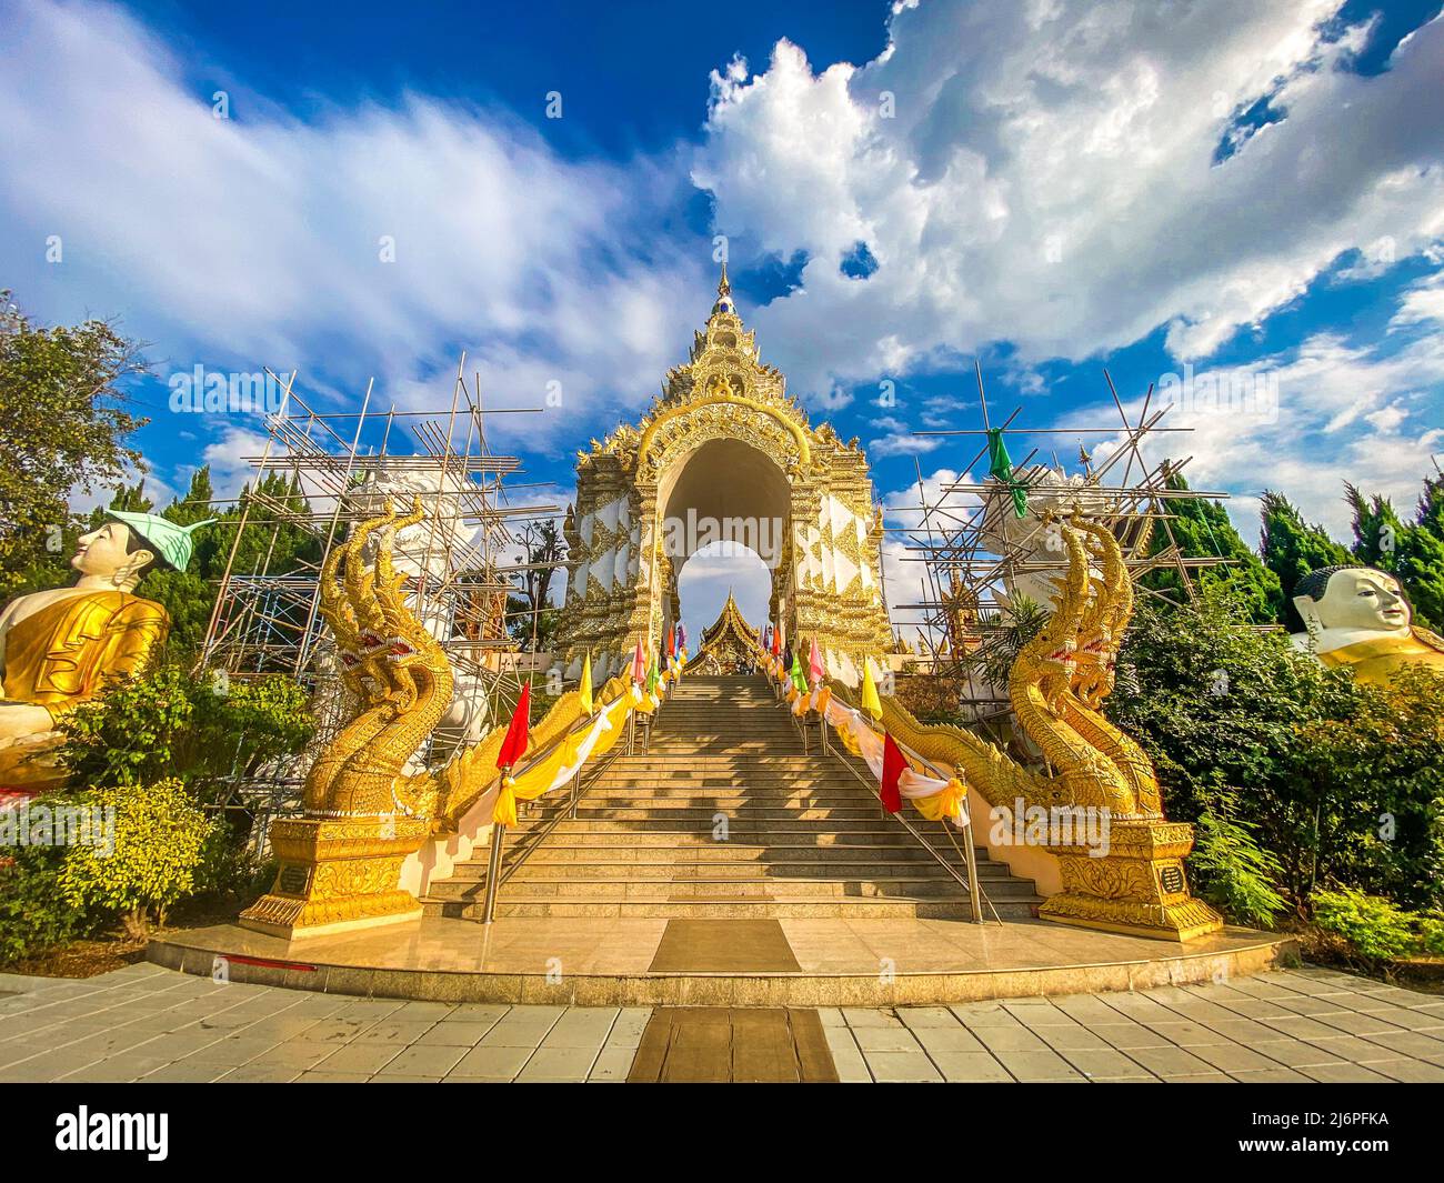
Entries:
{"type": "Polygon", "coordinates": [[[1444,234],[1444,22],[1362,77],[1340,65],[1367,29],[1318,30],[1339,6],[898,6],[862,68],[813,74],[783,40],[762,74],[713,75],[693,179],[723,233],[809,253],[757,315],[803,391],[1001,339],[1022,365],[1082,358],[1162,325],[1206,357],[1341,254],[1383,266],[1444,234]],[[1265,97],[1279,114],[1248,136],[1238,113],[1265,97]],[[866,280],[838,270],[858,241],[866,280]]]}

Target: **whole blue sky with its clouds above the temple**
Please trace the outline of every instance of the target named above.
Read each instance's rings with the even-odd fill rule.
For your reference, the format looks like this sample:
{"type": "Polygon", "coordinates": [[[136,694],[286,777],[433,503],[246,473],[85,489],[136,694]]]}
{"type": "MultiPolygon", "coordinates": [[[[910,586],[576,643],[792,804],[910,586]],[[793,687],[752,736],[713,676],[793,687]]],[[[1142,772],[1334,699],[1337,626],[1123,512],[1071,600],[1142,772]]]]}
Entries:
{"type": "MultiPolygon", "coordinates": [[[[970,458],[911,432],[980,426],[973,357],[1035,428],[1106,423],[1105,367],[1129,404],[1186,367],[1264,381],[1161,441],[1249,537],[1265,488],[1343,534],[1343,481],[1408,507],[1444,452],[1437,3],[487,9],[0,0],[0,285],[152,342],[162,497],[256,451],[254,420],[172,415],[172,373],[419,407],[464,348],[492,404],[560,383],[495,443],[565,497],[684,357],[719,234],[764,360],[895,521],[914,465],[970,458]]],[[[751,558],[686,579],[692,624],[729,582],[761,615],[751,558]]]]}

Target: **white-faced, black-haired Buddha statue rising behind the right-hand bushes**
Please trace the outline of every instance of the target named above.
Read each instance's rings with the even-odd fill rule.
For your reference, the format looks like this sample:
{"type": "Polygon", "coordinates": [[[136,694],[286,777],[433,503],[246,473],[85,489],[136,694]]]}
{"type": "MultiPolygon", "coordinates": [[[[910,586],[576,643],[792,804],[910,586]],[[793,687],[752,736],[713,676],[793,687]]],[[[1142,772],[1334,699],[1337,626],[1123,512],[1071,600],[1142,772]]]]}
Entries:
{"type": "Polygon", "coordinates": [[[1360,682],[1382,685],[1406,664],[1444,675],[1444,637],[1412,623],[1398,579],[1372,566],[1326,566],[1294,588],[1304,631],[1294,644],[1326,666],[1349,666],[1360,682]]]}

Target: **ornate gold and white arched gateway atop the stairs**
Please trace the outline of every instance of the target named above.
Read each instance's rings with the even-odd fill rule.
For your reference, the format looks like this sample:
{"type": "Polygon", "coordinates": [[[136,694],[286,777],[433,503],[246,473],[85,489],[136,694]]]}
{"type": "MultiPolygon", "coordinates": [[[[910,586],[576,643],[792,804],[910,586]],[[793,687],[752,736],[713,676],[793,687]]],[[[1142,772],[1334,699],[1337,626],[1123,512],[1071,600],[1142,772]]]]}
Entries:
{"type": "Polygon", "coordinates": [[[816,637],[829,673],[855,685],[890,644],[882,517],[856,439],[813,428],[742,328],[726,272],[686,364],[635,428],[578,454],[559,656],[576,677],[614,673],[674,618],[682,565],[713,540],[741,542],[773,571],[770,612],[816,637]]]}

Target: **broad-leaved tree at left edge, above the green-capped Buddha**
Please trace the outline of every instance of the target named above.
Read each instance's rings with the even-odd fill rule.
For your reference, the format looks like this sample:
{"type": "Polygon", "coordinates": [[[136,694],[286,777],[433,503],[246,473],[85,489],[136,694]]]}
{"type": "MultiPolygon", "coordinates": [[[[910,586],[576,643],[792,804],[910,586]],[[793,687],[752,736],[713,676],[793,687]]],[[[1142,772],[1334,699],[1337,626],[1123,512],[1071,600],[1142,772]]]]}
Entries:
{"type": "Polygon", "coordinates": [[[0,292],[0,601],[69,576],[72,490],[143,469],[129,441],[146,420],[126,409],[121,386],[144,371],[114,325],[45,328],[0,292]]]}

